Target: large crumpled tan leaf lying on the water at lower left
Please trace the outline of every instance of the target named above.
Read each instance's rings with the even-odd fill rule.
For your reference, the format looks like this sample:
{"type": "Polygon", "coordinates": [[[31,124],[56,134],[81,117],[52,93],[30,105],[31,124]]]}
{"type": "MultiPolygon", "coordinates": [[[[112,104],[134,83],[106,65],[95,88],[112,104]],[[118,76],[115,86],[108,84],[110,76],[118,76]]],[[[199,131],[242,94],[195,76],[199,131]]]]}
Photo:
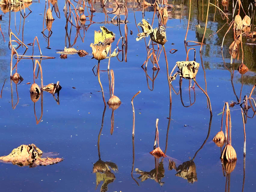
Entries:
{"type": "Polygon", "coordinates": [[[7,156],[0,157],[2,162],[11,162],[13,165],[36,167],[38,165],[53,165],[63,161],[62,158],[41,158],[42,151],[34,144],[21,145],[12,150],[7,156]]]}

